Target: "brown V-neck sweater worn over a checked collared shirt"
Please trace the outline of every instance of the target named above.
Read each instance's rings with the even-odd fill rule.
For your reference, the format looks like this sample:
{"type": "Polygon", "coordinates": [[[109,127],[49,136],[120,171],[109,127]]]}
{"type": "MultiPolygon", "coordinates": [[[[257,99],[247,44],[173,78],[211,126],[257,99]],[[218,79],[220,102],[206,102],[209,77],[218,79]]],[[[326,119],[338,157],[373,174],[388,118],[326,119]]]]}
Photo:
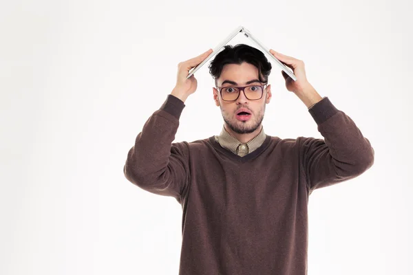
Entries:
{"type": "Polygon", "coordinates": [[[240,157],[214,136],[173,143],[184,106],[168,95],[124,166],[133,184],[182,205],[179,274],[307,274],[308,197],[368,170],[369,140],[325,97],[308,110],[324,139],[266,135],[240,157]]]}

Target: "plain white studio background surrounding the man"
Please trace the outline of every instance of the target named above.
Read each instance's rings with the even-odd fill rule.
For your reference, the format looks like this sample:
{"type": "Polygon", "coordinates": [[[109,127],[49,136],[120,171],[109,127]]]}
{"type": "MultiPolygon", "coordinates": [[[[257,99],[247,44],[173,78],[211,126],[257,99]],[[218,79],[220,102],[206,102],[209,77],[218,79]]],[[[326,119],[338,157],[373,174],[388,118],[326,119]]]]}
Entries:
{"type": "MultiPolygon", "coordinates": [[[[366,173],[310,196],[308,274],[413,274],[411,11],[407,0],[2,1],[0,274],[178,274],[180,204],[123,166],[178,63],[237,25],[303,60],[375,151],[366,173]]],[[[271,63],[266,133],[321,138],[271,63]]],[[[222,129],[207,65],[176,142],[222,129]]]]}

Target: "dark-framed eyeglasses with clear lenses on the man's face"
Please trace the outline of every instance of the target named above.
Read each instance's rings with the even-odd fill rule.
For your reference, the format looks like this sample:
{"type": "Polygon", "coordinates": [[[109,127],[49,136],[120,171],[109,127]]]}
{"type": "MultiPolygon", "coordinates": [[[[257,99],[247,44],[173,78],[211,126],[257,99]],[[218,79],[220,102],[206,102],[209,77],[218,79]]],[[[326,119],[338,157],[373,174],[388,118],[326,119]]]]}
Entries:
{"type": "Polygon", "coordinates": [[[235,86],[229,86],[229,87],[218,87],[221,94],[221,98],[224,101],[235,101],[240,97],[240,91],[244,92],[244,96],[248,100],[260,100],[262,98],[262,94],[264,91],[264,85],[248,85],[244,87],[235,87],[235,86]]]}

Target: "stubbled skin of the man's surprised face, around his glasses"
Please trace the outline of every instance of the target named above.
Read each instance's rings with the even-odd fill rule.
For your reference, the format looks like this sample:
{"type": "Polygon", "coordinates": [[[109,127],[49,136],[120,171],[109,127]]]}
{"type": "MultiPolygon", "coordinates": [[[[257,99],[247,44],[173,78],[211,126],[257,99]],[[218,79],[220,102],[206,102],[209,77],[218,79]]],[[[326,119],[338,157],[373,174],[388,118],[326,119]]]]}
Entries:
{"type": "MultiPolygon", "coordinates": [[[[258,69],[254,65],[243,62],[242,64],[226,64],[224,65],[220,77],[217,79],[218,87],[234,87],[247,85],[262,85],[258,80],[258,69]],[[226,80],[231,83],[226,83],[226,80]],[[257,80],[254,83],[248,81],[257,80]],[[236,83],[236,84],[235,84],[236,83]]],[[[240,91],[240,96],[237,100],[228,102],[222,100],[218,89],[213,88],[213,98],[215,104],[220,106],[222,118],[226,125],[235,133],[253,133],[260,127],[264,119],[265,104],[271,100],[271,85],[265,87],[264,93],[260,100],[248,100],[244,93],[240,91]],[[237,116],[237,111],[241,108],[248,109],[251,116],[248,120],[242,120],[237,116]]]]}

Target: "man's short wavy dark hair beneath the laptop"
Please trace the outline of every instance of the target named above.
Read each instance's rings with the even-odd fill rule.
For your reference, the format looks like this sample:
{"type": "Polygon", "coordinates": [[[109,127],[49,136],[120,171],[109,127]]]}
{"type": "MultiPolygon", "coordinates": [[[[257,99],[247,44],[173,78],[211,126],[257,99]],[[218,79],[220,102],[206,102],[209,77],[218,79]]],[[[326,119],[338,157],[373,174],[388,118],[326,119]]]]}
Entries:
{"type": "Polygon", "coordinates": [[[250,63],[258,69],[258,79],[262,83],[268,82],[268,76],[271,73],[271,63],[264,56],[264,53],[255,47],[246,44],[237,44],[234,47],[225,45],[224,50],[219,52],[213,61],[209,64],[209,74],[215,79],[215,86],[217,79],[220,77],[222,68],[226,64],[241,64],[243,62],[250,63]]]}

